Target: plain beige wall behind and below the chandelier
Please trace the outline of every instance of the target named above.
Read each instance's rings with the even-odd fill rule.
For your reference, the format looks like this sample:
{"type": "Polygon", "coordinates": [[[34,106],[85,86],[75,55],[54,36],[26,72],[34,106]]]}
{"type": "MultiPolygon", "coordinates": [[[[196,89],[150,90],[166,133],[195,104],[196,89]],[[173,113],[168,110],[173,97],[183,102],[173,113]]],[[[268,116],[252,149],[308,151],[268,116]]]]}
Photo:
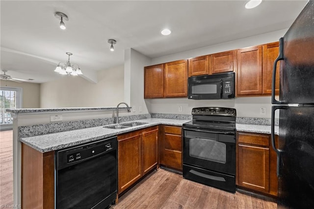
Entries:
{"type": "Polygon", "coordinates": [[[40,85],[41,108],[116,106],[124,100],[123,65],[99,71],[98,83],[78,76],[60,77],[40,85]]]}

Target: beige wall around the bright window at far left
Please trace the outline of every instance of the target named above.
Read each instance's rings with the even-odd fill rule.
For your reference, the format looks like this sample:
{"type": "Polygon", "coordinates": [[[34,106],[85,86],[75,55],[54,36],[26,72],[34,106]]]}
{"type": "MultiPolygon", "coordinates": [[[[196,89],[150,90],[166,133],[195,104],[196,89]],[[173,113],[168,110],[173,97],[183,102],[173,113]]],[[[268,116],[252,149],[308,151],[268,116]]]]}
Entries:
{"type": "Polygon", "coordinates": [[[21,108],[39,108],[40,107],[40,84],[39,83],[18,83],[10,80],[1,80],[0,85],[4,87],[21,87],[22,107],[21,108]]]}

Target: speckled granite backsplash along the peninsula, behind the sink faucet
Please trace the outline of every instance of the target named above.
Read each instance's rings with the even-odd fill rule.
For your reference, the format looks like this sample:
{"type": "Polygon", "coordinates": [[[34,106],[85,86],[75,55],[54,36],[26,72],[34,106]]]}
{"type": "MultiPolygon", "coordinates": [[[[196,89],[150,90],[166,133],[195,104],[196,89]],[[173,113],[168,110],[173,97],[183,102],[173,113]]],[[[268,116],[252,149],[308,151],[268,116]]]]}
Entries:
{"type": "MultiPolygon", "coordinates": [[[[134,120],[140,120],[145,118],[150,118],[150,114],[141,115],[130,115],[121,116],[120,122],[128,122],[134,120]]],[[[86,129],[97,126],[105,126],[114,123],[114,118],[99,118],[99,119],[89,119],[89,120],[79,120],[79,121],[64,121],[57,123],[32,125],[32,126],[21,126],[19,127],[20,138],[29,136],[38,136],[49,133],[58,133],[63,131],[72,131],[78,129],[86,129]]]]}

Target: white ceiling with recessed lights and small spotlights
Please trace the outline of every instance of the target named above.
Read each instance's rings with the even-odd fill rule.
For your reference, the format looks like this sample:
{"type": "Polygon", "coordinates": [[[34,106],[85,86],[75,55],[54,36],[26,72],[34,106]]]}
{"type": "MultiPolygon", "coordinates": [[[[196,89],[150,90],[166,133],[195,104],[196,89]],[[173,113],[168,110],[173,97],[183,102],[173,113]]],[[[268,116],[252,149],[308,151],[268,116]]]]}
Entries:
{"type": "Polygon", "coordinates": [[[264,0],[254,9],[246,2],[1,0],[0,67],[13,78],[47,82],[61,78],[53,70],[72,52],[71,63],[89,75],[123,64],[125,49],[155,58],[288,28],[307,0],[264,0]],[[69,17],[66,30],[57,11],[69,17]],[[165,27],[169,36],[160,34],[165,27]]]}

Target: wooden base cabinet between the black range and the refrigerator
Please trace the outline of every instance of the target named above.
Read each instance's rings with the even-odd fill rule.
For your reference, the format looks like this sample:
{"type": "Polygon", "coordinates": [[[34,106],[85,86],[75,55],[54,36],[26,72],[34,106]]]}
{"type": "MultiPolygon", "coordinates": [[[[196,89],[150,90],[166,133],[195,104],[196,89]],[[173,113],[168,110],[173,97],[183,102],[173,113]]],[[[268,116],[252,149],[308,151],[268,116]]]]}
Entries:
{"type": "Polygon", "coordinates": [[[236,140],[236,184],[277,196],[277,158],[270,134],[237,132],[236,140]]]}

